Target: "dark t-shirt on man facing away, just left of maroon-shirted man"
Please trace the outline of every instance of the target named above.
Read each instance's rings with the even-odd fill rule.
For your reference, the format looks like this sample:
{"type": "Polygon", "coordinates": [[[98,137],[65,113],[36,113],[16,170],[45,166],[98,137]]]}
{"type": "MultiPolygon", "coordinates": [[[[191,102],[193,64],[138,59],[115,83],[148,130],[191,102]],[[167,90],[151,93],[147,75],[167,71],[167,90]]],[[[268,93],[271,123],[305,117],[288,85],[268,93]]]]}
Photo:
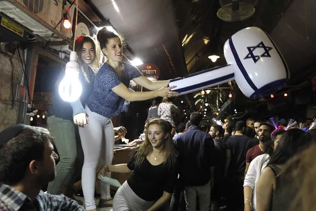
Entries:
{"type": "Polygon", "coordinates": [[[230,150],[230,164],[228,172],[243,175],[246,168],[246,144],[249,140],[245,135],[232,135],[227,139],[226,146],[230,150]]]}

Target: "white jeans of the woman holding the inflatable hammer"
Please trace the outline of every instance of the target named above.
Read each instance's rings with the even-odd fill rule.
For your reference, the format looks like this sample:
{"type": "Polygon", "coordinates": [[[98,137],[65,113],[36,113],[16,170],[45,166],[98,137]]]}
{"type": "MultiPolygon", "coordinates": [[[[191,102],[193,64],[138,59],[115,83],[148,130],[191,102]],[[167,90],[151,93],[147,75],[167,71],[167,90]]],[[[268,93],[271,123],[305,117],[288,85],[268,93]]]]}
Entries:
{"type": "MultiPolygon", "coordinates": [[[[95,209],[94,187],[97,165],[111,165],[114,154],[114,129],[110,118],[92,112],[88,106],[89,124],[79,128],[82,149],[85,159],[82,168],[82,190],[84,192],[86,210],[95,209]]],[[[106,172],[110,177],[111,173],[106,172]]],[[[110,185],[100,183],[101,199],[109,199],[110,185]]]]}

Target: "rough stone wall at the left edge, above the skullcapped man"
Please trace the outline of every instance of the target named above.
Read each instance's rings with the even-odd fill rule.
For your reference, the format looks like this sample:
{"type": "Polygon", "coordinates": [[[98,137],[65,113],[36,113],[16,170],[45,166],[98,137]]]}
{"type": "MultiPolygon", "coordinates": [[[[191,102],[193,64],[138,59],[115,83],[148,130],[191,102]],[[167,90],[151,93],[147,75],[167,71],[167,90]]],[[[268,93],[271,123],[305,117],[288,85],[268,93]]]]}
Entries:
{"type": "MultiPolygon", "coordinates": [[[[20,51],[21,53],[22,51],[20,51]]],[[[7,50],[7,48],[2,47],[0,49],[0,131],[7,126],[18,123],[20,103],[14,101],[12,108],[12,71],[13,100],[15,100],[16,86],[21,83],[23,77],[22,65],[17,50],[7,50]]]]}

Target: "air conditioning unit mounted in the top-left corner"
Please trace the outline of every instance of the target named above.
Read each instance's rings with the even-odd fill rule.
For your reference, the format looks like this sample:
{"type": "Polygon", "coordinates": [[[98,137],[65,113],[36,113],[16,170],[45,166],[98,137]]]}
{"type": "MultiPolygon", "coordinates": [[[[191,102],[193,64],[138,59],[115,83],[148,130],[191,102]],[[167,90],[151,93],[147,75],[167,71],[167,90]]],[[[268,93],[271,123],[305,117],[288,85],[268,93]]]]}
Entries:
{"type": "Polygon", "coordinates": [[[55,33],[52,41],[66,39],[60,33],[62,0],[0,0],[0,12],[30,29],[45,40],[55,33]]]}

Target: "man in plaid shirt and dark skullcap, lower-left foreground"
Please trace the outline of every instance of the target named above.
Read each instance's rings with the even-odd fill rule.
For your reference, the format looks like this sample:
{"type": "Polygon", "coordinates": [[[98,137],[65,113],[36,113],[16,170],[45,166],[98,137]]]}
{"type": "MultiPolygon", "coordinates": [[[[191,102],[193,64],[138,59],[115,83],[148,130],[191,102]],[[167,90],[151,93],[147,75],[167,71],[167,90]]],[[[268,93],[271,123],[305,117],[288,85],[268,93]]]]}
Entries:
{"type": "Polygon", "coordinates": [[[10,126],[0,132],[1,211],[84,211],[64,195],[45,194],[41,188],[55,178],[52,137],[41,127],[10,126]]]}

